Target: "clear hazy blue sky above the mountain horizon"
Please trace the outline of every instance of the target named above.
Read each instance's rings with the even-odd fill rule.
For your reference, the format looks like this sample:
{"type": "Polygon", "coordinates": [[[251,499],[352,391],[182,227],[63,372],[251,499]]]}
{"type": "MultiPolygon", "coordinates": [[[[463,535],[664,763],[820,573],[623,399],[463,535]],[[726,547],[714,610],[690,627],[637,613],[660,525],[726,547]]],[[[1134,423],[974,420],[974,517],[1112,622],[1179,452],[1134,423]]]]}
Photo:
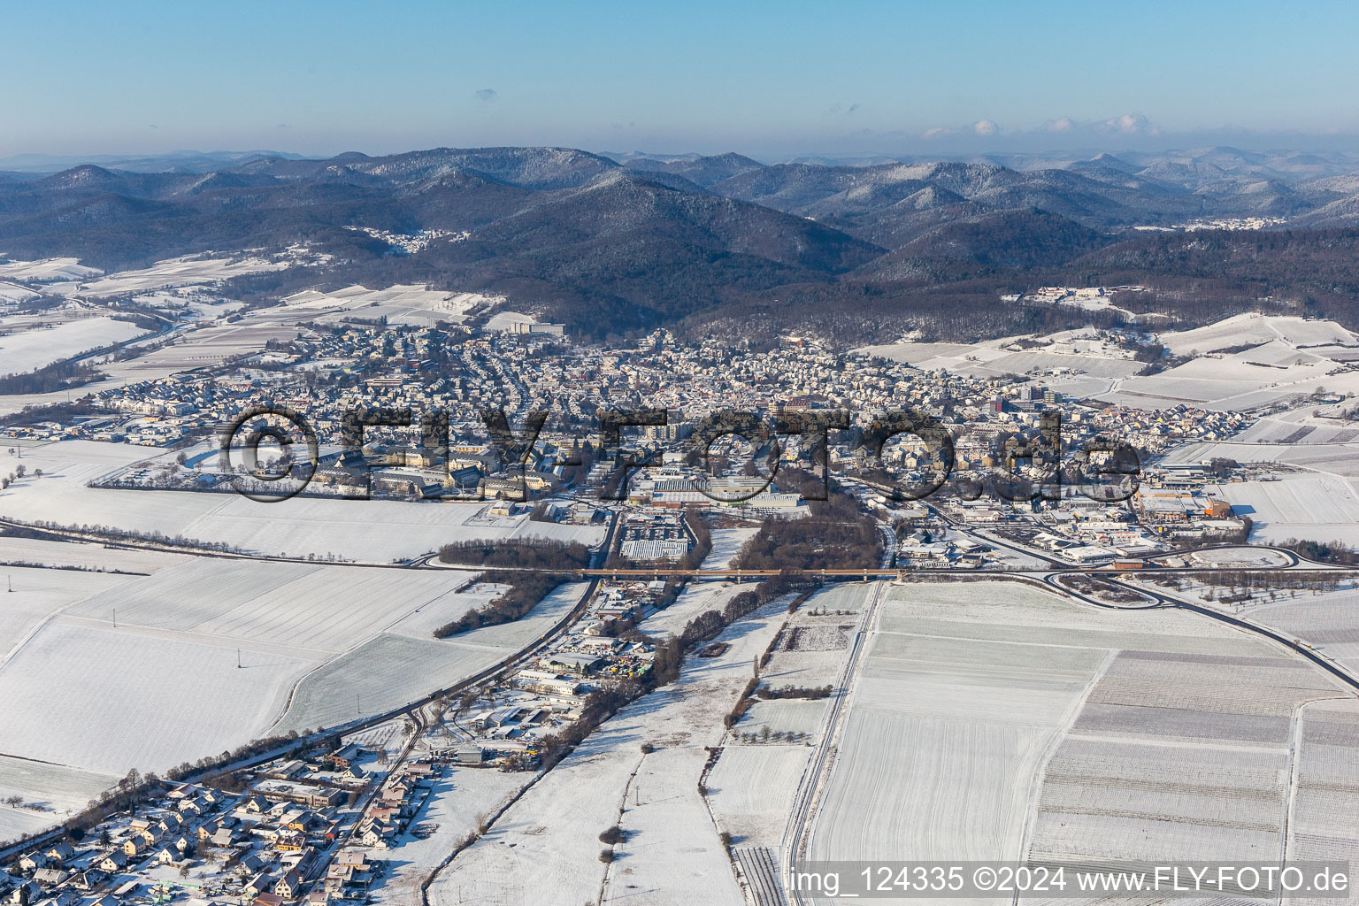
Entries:
{"type": "Polygon", "coordinates": [[[14,3],[0,156],[1354,147],[1359,4],[14,3]]]}

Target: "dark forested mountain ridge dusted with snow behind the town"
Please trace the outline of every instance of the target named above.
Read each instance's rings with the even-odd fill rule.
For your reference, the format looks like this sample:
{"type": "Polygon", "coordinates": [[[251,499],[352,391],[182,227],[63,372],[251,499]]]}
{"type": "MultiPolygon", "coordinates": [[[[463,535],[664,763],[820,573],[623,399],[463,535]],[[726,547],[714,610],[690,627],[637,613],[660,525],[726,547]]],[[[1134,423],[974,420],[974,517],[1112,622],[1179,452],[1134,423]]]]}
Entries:
{"type": "MultiPolygon", "coordinates": [[[[847,166],[496,147],[251,153],[201,173],[82,163],[0,178],[11,255],[125,269],[306,243],[333,264],[260,277],[251,291],[423,281],[501,293],[587,333],[701,326],[734,311],[771,323],[833,315],[860,329],[919,318],[945,297],[958,311],[959,299],[995,304],[1002,291],[1078,268],[1083,280],[1112,266],[1132,278],[1129,262],[1142,262],[1170,277],[1174,249],[1192,238],[1148,246],[1132,227],[1256,216],[1302,230],[1267,243],[1280,255],[1313,243],[1306,231],[1359,225],[1359,158],[1210,148],[847,166]],[[352,225],[467,235],[398,254],[352,225]],[[860,310],[877,314],[845,314],[860,310]]],[[[1207,280],[1210,262],[1195,261],[1207,280]]]]}

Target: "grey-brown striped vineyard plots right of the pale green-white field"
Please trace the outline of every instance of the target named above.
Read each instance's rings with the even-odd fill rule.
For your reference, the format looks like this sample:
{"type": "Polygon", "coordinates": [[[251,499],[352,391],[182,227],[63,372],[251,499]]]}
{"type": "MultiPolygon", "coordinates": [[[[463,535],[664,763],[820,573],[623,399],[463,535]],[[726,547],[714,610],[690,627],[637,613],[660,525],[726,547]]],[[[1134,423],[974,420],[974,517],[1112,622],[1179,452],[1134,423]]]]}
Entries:
{"type": "MultiPolygon", "coordinates": [[[[1345,693],[1265,644],[1238,655],[1163,648],[1118,651],[1090,690],[1044,774],[1029,858],[1283,853],[1295,714],[1345,693]]],[[[1310,810],[1301,799],[1292,808],[1310,810]]]]}

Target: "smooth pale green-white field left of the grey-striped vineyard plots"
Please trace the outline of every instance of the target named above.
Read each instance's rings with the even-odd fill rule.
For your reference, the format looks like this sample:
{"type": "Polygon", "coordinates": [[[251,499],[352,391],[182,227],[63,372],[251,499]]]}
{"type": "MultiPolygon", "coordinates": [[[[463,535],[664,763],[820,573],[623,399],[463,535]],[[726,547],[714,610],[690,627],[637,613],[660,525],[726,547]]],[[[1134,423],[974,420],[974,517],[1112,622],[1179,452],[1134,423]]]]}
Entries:
{"type": "Polygon", "coordinates": [[[1031,780],[1106,657],[1063,636],[1074,607],[1000,583],[894,588],[851,693],[809,856],[1018,857],[1031,780]],[[949,615],[917,626],[939,609],[949,615]],[[988,644],[969,638],[965,621],[978,610],[987,622],[1045,611],[1052,625],[1045,642],[988,644]]]}

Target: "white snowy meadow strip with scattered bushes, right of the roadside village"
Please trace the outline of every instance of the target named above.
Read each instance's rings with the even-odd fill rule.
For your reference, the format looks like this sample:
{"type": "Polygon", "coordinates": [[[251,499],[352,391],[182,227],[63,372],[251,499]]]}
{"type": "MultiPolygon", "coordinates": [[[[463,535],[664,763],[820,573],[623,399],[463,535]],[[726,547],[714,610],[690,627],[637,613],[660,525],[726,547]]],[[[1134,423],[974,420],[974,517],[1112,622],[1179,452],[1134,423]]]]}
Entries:
{"type": "Polygon", "coordinates": [[[696,785],[704,746],[720,743],[722,719],[783,617],[773,603],[737,622],[718,637],[731,648],[686,659],[677,682],[605,721],[458,856],[455,871],[431,887],[431,903],[527,906],[541,902],[542,891],[556,903],[598,902],[601,884],[606,902],[636,902],[646,891],[648,905],[743,903],[696,785]],[[656,751],[644,755],[643,742],[656,751]],[[606,882],[598,834],[613,825],[631,835],[614,848],[606,882]]]}

